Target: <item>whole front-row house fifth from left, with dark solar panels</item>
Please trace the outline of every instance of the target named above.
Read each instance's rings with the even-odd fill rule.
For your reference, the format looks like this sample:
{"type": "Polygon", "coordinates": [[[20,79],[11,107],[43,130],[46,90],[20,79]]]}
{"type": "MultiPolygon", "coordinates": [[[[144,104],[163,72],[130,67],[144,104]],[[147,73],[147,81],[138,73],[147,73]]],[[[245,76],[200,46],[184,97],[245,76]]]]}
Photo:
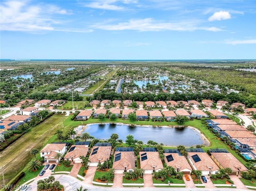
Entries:
{"type": "Polygon", "coordinates": [[[139,152],[140,168],[144,169],[144,174],[152,174],[164,168],[158,152],[139,152]]]}

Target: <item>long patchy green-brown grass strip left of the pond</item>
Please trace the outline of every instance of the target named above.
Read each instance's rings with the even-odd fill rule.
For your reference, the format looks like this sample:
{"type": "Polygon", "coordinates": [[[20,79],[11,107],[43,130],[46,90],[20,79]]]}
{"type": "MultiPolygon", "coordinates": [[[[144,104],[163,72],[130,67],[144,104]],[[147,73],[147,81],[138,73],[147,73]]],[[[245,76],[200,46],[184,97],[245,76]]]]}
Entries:
{"type": "MultiPolygon", "coordinates": [[[[0,152],[0,166],[4,167],[5,183],[15,177],[30,161],[33,157],[30,150],[33,148],[40,150],[58,128],[62,128],[62,116],[51,116],[0,152]]],[[[2,171],[0,172],[0,184],[3,184],[2,171]]]]}

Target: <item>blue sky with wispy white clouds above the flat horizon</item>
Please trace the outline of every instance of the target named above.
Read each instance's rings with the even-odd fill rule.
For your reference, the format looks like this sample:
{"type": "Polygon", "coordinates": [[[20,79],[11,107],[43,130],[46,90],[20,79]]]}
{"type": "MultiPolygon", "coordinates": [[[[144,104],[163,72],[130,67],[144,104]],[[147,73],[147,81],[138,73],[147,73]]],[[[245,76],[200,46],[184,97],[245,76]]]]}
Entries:
{"type": "Polygon", "coordinates": [[[256,59],[255,0],[0,2],[1,59],[256,59]]]}

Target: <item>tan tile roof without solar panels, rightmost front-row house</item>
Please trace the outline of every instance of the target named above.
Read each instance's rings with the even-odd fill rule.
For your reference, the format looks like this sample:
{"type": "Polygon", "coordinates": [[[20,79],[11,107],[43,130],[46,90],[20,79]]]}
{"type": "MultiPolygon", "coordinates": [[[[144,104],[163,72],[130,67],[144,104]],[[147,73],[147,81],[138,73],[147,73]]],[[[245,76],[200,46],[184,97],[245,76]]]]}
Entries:
{"type": "Polygon", "coordinates": [[[231,168],[232,171],[248,171],[248,169],[238,161],[231,153],[211,153],[223,168],[231,168]]]}

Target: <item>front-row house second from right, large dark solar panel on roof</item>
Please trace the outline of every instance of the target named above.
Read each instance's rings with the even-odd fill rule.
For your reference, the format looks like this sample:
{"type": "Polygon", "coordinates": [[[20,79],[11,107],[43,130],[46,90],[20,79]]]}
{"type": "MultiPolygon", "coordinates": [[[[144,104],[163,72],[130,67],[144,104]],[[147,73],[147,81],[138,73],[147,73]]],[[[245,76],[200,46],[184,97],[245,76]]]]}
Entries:
{"type": "Polygon", "coordinates": [[[201,170],[202,175],[217,174],[219,171],[216,163],[202,149],[186,149],[188,161],[194,170],[201,170]]]}

